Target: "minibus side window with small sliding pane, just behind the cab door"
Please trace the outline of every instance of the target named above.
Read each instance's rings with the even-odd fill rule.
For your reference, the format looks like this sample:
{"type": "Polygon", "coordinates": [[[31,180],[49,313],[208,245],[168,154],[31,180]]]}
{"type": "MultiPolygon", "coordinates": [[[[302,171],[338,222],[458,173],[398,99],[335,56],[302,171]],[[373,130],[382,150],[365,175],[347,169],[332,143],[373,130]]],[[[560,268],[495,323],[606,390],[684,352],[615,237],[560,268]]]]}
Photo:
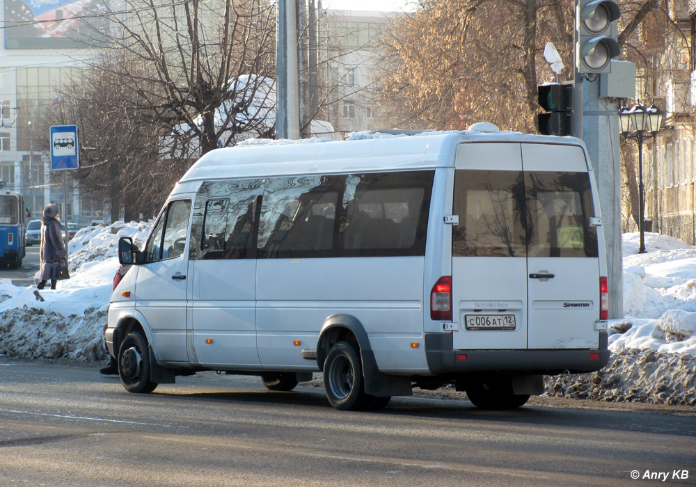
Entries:
{"type": "Polygon", "coordinates": [[[255,257],[263,179],[205,182],[193,206],[191,260],[255,257]]]}

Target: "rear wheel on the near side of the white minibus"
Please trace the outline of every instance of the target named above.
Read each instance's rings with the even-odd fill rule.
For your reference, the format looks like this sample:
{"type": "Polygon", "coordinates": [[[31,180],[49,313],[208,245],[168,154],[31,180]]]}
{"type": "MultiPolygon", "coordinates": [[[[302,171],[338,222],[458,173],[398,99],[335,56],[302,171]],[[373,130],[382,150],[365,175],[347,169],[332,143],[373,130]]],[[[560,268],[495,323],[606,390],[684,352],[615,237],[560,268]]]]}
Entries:
{"type": "Polygon", "coordinates": [[[324,390],[329,404],[336,409],[360,410],[368,406],[374,396],[365,394],[363,364],[356,345],[338,342],[331,347],[324,362],[324,390]]]}

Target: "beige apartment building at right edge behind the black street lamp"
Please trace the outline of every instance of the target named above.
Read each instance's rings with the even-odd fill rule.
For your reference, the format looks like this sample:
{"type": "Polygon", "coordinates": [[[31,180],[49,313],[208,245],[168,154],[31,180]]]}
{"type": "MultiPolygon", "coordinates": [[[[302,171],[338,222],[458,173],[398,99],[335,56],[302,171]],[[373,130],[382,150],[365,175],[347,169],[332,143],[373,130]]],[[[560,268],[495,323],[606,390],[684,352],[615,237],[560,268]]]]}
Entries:
{"type": "Polygon", "coordinates": [[[696,1],[667,6],[679,31],[665,34],[647,23],[640,33],[653,38],[654,68],[639,67],[636,93],[652,95],[668,127],[643,150],[645,218],[652,231],[696,245],[696,1]]]}

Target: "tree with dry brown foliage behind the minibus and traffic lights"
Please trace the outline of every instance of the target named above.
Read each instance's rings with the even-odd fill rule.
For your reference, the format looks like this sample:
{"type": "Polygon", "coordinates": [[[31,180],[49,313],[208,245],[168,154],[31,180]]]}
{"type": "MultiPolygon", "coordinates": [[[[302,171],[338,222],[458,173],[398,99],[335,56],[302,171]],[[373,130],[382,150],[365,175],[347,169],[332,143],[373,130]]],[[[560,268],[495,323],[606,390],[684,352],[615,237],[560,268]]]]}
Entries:
{"type": "MultiPolygon", "coordinates": [[[[622,39],[631,37],[657,0],[619,2],[622,39]],[[626,4],[626,5],[624,5],[626,4]]],[[[572,0],[420,0],[397,19],[386,39],[383,65],[391,74],[386,106],[406,125],[462,129],[486,120],[535,131],[537,85],[555,79],[543,51],[551,41],[564,60],[562,78],[574,67],[572,0]]]]}

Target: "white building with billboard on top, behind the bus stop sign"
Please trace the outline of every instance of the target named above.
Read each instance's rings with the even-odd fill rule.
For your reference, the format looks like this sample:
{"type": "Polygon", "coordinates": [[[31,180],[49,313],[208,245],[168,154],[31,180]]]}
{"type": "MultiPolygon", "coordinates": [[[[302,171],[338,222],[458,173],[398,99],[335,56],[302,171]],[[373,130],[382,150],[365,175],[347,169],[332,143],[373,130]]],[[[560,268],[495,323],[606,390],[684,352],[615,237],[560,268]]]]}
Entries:
{"type": "MultiPolygon", "coordinates": [[[[34,147],[34,141],[45,111],[60,104],[58,88],[78,74],[89,57],[83,41],[94,35],[74,17],[84,15],[93,1],[3,0],[3,6],[0,179],[8,189],[24,194],[30,218],[40,218],[43,207],[53,202],[61,205],[64,221],[88,223],[93,216],[101,216],[101,211],[88,211],[81,218],[84,211],[70,177],[67,208],[63,209],[63,178],[52,177],[49,154],[34,147]]],[[[48,131],[45,136],[49,137],[48,131]]]]}

